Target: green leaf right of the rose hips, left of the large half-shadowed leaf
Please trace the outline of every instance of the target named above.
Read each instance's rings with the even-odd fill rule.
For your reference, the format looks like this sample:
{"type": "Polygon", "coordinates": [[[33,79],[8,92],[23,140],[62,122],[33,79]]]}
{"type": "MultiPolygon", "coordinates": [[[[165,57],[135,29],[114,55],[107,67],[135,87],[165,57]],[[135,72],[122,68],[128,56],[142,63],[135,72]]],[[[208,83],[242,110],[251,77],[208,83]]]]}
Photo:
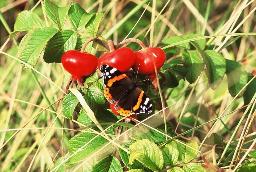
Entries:
{"type": "Polygon", "coordinates": [[[189,83],[194,83],[204,69],[203,60],[196,50],[182,50],[181,55],[185,63],[189,65],[186,80],[189,81],[189,83]]]}

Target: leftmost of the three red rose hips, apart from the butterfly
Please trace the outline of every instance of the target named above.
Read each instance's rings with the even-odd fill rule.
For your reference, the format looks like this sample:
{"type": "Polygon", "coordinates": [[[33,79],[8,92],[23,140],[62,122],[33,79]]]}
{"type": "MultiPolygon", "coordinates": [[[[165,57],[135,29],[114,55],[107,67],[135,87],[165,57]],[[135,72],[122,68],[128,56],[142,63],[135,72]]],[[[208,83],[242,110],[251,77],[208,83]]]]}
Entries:
{"type": "Polygon", "coordinates": [[[81,53],[77,50],[66,51],[61,58],[64,69],[75,78],[93,74],[97,68],[97,58],[90,53],[81,53]]]}

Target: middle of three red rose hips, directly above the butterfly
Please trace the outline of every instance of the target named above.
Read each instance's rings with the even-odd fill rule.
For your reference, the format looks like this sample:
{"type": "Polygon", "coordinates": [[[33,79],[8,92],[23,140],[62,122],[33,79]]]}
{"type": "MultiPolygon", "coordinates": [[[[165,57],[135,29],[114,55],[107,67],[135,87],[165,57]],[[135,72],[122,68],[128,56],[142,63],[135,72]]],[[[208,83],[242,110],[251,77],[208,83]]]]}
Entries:
{"type": "Polygon", "coordinates": [[[100,69],[102,64],[107,64],[121,72],[127,72],[134,65],[134,62],[135,54],[133,50],[128,47],[122,47],[101,55],[98,59],[98,68],[100,69]]]}

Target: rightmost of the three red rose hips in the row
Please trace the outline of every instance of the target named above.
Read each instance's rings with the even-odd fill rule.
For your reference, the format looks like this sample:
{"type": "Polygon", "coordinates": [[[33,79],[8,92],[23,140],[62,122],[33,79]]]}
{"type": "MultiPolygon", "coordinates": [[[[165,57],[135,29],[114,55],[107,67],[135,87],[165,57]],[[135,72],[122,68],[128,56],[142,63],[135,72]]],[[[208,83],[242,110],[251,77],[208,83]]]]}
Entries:
{"type": "Polygon", "coordinates": [[[133,70],[141,74],[153,74],[155,73],[154,64],[156,71],[159,71],[165,62],[165,53],[158,47],[146,47],[136,51],[135,55],[133,70]]]}

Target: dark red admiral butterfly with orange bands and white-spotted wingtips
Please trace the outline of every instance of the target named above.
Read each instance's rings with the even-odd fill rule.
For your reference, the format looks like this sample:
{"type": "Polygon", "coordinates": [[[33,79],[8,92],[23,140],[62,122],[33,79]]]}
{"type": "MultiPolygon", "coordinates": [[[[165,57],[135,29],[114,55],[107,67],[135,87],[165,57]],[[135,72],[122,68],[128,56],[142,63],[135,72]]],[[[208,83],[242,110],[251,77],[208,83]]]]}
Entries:
{"type": "MultiPolygon", "coordinates": [[[[138,88],[138,81],[132,82],[126,74],[109,65],[101,65],[104,79],[104,96],[121,116],[149,114],[152,112],[150,99],[138,88]]],[[[136,116],[137,117],[137,116],[136,116]]]]}

